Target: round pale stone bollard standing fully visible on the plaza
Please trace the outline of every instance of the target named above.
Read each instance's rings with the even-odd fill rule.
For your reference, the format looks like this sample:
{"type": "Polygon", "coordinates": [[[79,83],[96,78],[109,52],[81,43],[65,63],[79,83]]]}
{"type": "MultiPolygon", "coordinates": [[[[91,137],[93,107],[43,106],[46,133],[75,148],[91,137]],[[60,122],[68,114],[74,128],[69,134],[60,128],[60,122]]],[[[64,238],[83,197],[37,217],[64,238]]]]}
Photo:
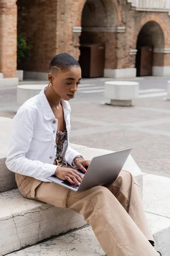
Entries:
{"type": "Polygon", "coordinates": [[[113,106],[132,106],[132,100],[139,96],[139,83],[132,81],[105,82],[105,97],[113,106]]]}

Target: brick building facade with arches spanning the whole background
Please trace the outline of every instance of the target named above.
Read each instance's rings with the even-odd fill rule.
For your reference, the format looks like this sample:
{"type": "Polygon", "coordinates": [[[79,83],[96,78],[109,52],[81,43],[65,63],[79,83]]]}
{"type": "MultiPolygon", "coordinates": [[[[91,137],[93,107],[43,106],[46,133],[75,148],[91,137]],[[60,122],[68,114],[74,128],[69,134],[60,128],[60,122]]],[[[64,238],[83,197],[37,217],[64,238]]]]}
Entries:
{"type": "MultiPolygon", "coordinates": [[[[153,32],[153,41],[158,43],[157,37],[162,34],[164,47],[170,48],[168,13],[139,12],[126,0],[17,0],[17,6],[15,2],[0,1],[0,72],[4,77],[16,76],[17,29],[33,46],[29,63],[20,65],[30,71],[48,72],[51,58],[60,52],[68,52],[79,59],[79,36],[81,43],[105,43],[106,69],[135,67],[136,57],[129,51],[136,49],[140,30],[151,20],[159,24],[158,30],[156,26],[148,29],[153,32]],[[74,26],[125,26],[126,32],[84,31],[80,35],[72,31],[74,26]]],[[[162,45],[161,42],[155,47],[162,45]]],[[[154,65],[169,66],[170,54],[155,53],[154,65]]]]}

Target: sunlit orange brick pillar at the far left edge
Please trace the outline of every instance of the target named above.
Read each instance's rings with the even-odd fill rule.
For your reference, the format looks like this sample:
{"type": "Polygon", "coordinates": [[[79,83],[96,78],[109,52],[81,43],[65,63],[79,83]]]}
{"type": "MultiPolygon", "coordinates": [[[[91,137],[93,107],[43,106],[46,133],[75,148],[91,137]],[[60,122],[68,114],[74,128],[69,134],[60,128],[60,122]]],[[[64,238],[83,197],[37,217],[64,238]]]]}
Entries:
{"type": "Polygon", "coordinates": [[[16,77],[17,6],[16,0],[0,1],[0,73],[4,78],[16,77]]]}

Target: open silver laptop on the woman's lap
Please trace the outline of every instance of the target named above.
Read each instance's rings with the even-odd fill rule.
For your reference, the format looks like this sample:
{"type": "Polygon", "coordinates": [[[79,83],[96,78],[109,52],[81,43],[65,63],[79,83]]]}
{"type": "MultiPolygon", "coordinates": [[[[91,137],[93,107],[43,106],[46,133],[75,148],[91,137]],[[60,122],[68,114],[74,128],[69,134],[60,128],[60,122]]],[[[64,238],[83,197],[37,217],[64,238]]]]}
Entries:
{"type": "Polygon", "coordinates": [[[94,186],[111,183],[118,177],[131,149],[128,148],[111,154],[94,157],[85,174],[81,170],[77,170],[83,176],[79,186],[77,184],[72,185],[68,180],[60,180],[55,175],[47,177],[47,179],[74,191],[84,191],[94,186]]]}

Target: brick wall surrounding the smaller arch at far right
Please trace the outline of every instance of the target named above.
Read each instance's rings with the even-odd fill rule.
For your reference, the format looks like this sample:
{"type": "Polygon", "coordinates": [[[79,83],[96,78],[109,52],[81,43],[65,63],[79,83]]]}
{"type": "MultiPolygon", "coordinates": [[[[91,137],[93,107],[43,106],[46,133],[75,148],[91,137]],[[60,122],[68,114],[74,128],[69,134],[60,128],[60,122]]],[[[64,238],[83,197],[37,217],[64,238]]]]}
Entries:
{"type": "MultiPolygon", "coordinates": [[[[120,3],[122,10],[122,26],[126,27],[126,32],[124,35],[117,35],[117,68],[130,68],[135,67],[135,55],[129,55],[130,49],[136,49],[137,39],[139,32],[142,27],[149,21],[154,21],[158,26],[148,26],[145,34],[150,32],[153,34],[153,45],[157,48],[169,48],[170,38],[168,37],[168,30],[170,24],[170,16],[168,13],[163,12],[139,12],[135,8],[131,7],[131,4],[121,1],[120,3]],[[158,40],[158,38],[164,37],[163,40],[158,40]]],[[[148,35],[149,35],[148,34],[148,35]]],[[[144,38],[144,37],[143,37],[144,38]]],[[[141,38],[142,39],[142,38],[141,38]]],[[[141,45],[142,46],[142,45],[141,45]]],[[[155,53],[153,65],[164,66],[165,56],[167,55],[155,53]]],[[[168,61],[166,61],[168,63],[168,61]]]]}

